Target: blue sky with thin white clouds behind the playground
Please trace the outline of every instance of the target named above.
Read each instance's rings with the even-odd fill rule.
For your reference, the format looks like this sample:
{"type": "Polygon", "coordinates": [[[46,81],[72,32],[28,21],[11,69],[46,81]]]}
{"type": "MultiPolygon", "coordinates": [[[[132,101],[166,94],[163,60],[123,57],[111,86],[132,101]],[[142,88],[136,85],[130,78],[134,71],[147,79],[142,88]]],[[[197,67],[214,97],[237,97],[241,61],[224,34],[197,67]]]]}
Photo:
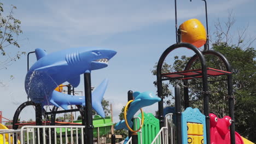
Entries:
{"type": "MultiPolygon", "coordinates": [[[[214,22],[226,20],[229,11],[235,15],[234,30],[247,26],[247,36],[255,37],[256,10],[254,0],[215,0],[208,3],[208,23],[214,32],[214,22]]],[[[126,104],[127,91],[156,91],[156,79],[150,71],[161,53],[175,43],[174,1],[5,1],[5,14],[10,4],[18,9],[14,16],[21,20],[23,34],[19,41],[20,51],[34,51],[37,47],[48,53],[72,47],[96,46],[117,51],[107,68],[92,71],[92,86],[108,78],[109,85],[104,96],[114,107],[114,121],[118,121],[121,108],[126,104]]],[[[178,1],[178,25],[196,18],[205,25],[205,9],[202,1],[178,1]]],[[[236,34],[232,36],[236,39],[236,34]]],[[[255,44],[252,46],[255,47],[255,44]]],[[[15,53],[9,47],[9,53],[15,53]]],[[[187,49],[174,51],[171,56],[193,53],[187,49]]],[[[2,61],[3,59],[1,59],[2,61]]],[[[31,56],[30,64],[36,60],[31,56]]],[[[171,61],[171,60],[170,60],[171,61]]],[[[26,101],[24,80],[27,58],[1,70],[0,110],[3,116],[13,118],[16,108],[26,101]],[[9,81],[9,75],[14,79],[9,81]]],[[[83,80],[76,88],[83,91],[83,80]]],[[[34,119],[32,107],[22,112],[22,119],[34,119]]],[[[144,109],[154,112],[157,105],[144,109]]]]}

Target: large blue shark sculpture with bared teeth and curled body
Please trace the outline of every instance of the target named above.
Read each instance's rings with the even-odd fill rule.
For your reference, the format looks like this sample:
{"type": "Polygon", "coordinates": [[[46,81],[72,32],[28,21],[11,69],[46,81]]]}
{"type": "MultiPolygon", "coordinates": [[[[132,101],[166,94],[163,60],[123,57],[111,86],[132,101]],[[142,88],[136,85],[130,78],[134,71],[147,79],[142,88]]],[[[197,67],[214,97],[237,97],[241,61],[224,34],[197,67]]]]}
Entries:
{"type": "MultiPolygon", "coordinates": [[[[84,97],[63,94],[54,89],[63,82],[73,87],[80,83],[80,75],[91,70],[108,66],[108,60],[117,52],[96,48],[73,48],[47,55],[43,49],[36,49],[37,62],[28,70],[25,78],[25,89],[34,103],[61,106],[67,110],[68,105],[85,105],[84,97]]],[[[92,93],[92,107],[104,117],[101,100],[107,87],[104,80],[92,93]]]]}

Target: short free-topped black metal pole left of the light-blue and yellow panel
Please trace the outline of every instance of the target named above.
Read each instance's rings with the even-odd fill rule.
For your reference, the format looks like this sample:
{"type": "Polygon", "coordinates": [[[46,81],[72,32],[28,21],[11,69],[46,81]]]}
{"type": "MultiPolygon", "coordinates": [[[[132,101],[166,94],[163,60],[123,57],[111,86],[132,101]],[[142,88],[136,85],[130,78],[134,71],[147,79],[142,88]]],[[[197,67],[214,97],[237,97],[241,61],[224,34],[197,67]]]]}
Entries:
{"type": "Polygon", "coordinates": [[[181,123],[181,95],[180,95],[180,87],[177,85],[174,87],[175,92],[175,110],[176,110],[176,130],[177,130],[177,144],[182,143],[182,123],[181,123]]]}

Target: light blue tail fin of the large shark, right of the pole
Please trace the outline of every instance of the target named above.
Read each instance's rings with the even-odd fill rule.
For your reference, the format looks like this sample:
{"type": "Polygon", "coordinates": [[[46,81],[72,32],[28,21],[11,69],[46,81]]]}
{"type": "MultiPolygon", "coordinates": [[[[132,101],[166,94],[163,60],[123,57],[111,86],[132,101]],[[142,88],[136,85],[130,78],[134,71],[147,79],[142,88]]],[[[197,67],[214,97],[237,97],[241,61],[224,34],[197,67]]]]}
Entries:
{"type": "Polygon", "coordinates": [[[107,86],[108,86],[108,79],[104,79],[101,82],[101,84],[92,93],[92,108],[94,108],[97,114],[103,118],[105,117],[105,113],[101,105],[101,101],[107,89],[107,86]]]}

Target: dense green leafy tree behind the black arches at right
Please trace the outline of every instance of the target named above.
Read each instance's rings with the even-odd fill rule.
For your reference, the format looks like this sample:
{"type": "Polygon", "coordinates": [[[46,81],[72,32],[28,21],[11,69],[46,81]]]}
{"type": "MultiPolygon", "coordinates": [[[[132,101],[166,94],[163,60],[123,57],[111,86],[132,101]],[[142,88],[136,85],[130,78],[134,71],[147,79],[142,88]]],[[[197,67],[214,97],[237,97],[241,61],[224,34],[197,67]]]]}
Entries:
{"type": "MultiPolygon", "coordinates": [[[[212,50],[222,53],[232,65],[233,76],[233,91],[235,97],[235,122],[236,131],[247,139],[255,142],[254,134],[256,133],[255,119],[256,119],[256,97],[255,97],[255,69],[256,51],[251,44],[255,39],[246,39],[246,29],[238,31],[238,42],[233,43],[230,37],[230,31],[232,25],[234,25],[235,19],[231,15],[228,17],[228,21],[222,26],[218,20],[216,25],[216,39],[212,41],[212,50]]],[[[173,65],[164,63],[162,69],[167,72],[182,71],[185,64],[187,64],[190,57],[174,57],[173,65]]],[[[206,56],[207,67],[225,70],[224,64],[219,61],[217,57],[206,56]]],[[[154,67],[156,68],[156,66],[154,67]]],[[[195,62],[191,69],[200,68],[199,62],[195,62]]],[[[153,75],[156,75],[156,70],[152,71],[153,75]]],[[[219,117],[229,115],[228,112],[228,93],[226,81],[220,81],[226,79],[225,76],[210,77],[208,81],[215,81],[209,83],[208,89],[211,92],[210,95],[210,112],[216,113],[219,117]]],[[[201,79],[189,80],[193,85],[189,85],[190,92],[190,106],[197,107],[203,110],[203,98],[202,98],[202,85],[201,79]]],[[[154,82],[156,85],[156,82],[154,82]]],[[[181,81],[168,81],[164,83],[164,95],[171,99],[174,99],[172,92],[169,90],[170,85],[180,85],[183,87],[181,81]]],[[[183,93],[183,91],[181,91],[183,93]]],[[[167,105],[173,105],[173,101],[169,99],[167,105]]],[[[182,98],[183,101],[183,98],[182,98]]]]}

